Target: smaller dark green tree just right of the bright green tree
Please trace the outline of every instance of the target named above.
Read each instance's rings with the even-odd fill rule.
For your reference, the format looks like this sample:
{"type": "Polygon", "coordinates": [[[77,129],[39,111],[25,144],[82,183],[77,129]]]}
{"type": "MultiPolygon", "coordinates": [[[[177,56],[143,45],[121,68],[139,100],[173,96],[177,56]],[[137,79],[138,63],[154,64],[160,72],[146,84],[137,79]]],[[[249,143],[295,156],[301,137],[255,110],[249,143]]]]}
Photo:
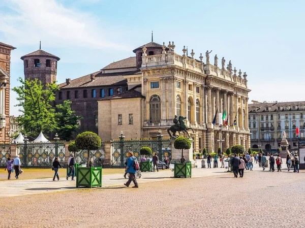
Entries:
{"type": "Polygon", "coordinates": [[[64,104],[56,105],[55,119],[57,122],[58,136],[62,140],[70,141],[73,139],[73,133],[79,129],[78,120],[82,119],[77,116],[71,109],[72,102],[64,101],[64,104]]]}

